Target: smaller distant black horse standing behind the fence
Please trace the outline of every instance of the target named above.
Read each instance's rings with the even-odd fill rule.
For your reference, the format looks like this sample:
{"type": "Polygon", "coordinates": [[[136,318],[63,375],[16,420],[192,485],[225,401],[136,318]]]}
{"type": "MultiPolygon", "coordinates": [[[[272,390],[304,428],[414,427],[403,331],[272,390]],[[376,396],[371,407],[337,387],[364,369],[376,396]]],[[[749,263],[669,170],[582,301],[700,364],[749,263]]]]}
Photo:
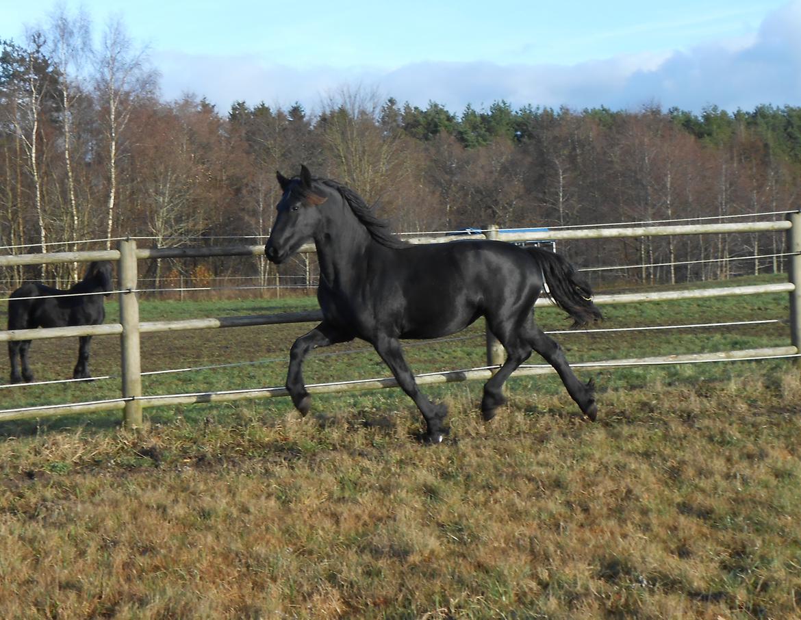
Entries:
{"type": "MultiPolygon", "coordinates": [[[[83,280],[72,288],[62,291],[41,282],[22,284],[11,293],[8,302],[8,328],[33,329],[66,327],[67,325],[97,325],[106,318],[103,308],[103,295],[111,292],[113,274],[111,263],[107,260],[89,264],[83,280]],[[95,293],[95,294],[89,294],[95,293]]],[[[78,363],[72,372],[74,379],[87,379],[89,373],[89,344],[91,336],[78,337],[78,363]]],[[[17,340],[8,343],[8,356],[11,360],[11,383],[34,380],[28,365],[30,340],[17,340]],[[19,372],[17,356],[22,364],[19,372]]]]}

